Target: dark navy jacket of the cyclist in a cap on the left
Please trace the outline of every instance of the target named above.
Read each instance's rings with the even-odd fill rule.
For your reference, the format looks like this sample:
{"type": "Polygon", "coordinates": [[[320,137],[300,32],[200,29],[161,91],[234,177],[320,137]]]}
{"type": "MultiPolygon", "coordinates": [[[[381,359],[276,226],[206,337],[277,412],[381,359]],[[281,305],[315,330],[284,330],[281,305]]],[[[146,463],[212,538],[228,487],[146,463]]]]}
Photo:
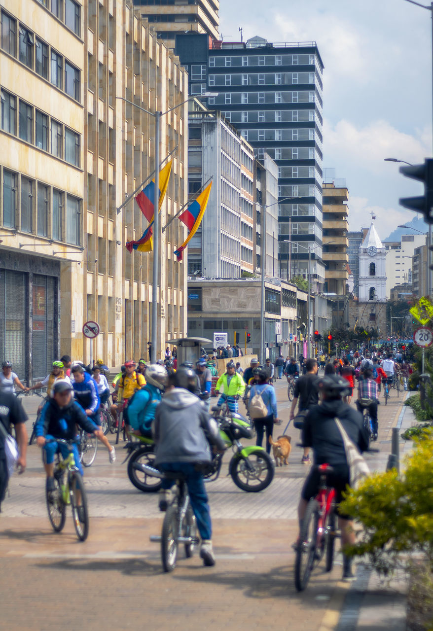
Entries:
{"type": "Polygon", "coordinates": [[[54,438],[72,440],[76,436],[77,423],[88,433],[95,431],[95,425],[76,401],[72,399],[69,405],[59,408],[54,399],[49,399],[42,408],[35,432],[37,436],[50,434],[54,438]]]}

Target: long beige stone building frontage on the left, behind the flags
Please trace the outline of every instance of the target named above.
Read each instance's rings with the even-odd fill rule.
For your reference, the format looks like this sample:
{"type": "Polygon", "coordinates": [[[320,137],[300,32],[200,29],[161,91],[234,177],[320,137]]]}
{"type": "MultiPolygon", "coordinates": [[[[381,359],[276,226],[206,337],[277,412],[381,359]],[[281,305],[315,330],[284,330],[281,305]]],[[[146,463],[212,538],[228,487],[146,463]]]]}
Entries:
{"type": "MultiPolygon", "coordinates": [[[[186,98],[187,77],[131,0],[4,0],[0,40],[0,355],[20,379],[63,353],[110,366],[145,353],[153,254],[125,243],[147,226],[134,200],[155,168],[154,118],[186,98]],[[92,342],[84,322],[98,322],[92,342]]],[[[162,223],[186,201],[186,105],[161,119],[173,173],[162,223]]],[[[158,352],[186,333],[186,266],[163,233],[158,352]]]]}

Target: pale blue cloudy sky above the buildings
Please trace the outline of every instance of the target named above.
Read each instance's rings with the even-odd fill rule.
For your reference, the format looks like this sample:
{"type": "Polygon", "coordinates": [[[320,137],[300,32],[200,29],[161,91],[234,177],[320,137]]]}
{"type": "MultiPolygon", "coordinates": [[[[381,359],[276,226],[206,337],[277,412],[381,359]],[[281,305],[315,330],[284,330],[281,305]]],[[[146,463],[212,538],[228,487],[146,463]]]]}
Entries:
{"type": "Polygon", "coordinates": [[[220,0],[225,41],[317,42],[323,74],[323,167],[349,191],[349,230],[376,215],[381,239],[412,211],[422,184],[384,158],[422,163],[432,149],[431,11],[405,0],[220,0]],[[229,8],[230,7],[230,8],[229,8]],[[263,9],[266,7],[266,11],[263,9]]]}

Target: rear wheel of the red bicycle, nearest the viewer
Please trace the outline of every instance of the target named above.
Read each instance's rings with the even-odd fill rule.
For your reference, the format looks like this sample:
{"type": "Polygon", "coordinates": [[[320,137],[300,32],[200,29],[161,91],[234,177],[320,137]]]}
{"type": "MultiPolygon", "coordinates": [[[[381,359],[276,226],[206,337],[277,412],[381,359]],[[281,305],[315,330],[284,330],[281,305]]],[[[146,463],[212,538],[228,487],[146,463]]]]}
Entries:
{"type": "Polygon", "coordinates": [[[317,525],[319,523],[319,504],[310,500],[305,510],[304,524],[300,533],[295,558],[295,587],[302,591],[307,587],[316,554],[317,525]]]}

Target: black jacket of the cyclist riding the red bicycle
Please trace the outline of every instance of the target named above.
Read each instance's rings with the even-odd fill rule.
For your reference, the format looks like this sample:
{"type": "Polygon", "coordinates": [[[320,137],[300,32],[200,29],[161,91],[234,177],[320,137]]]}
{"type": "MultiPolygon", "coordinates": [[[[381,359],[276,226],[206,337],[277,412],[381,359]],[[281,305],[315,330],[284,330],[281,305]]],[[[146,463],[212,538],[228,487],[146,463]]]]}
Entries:
{"type": "Polygon", "coordinates": [[[302,444],[312,447],[315,464],[331,466],[347,464],[343,439],[334,418],[340,420],[348,437],[360,451],[369,447],[368,432],[364,428],[362,414],[341,399],[323,401],[310,408],[302,429],[302,444]]]}

